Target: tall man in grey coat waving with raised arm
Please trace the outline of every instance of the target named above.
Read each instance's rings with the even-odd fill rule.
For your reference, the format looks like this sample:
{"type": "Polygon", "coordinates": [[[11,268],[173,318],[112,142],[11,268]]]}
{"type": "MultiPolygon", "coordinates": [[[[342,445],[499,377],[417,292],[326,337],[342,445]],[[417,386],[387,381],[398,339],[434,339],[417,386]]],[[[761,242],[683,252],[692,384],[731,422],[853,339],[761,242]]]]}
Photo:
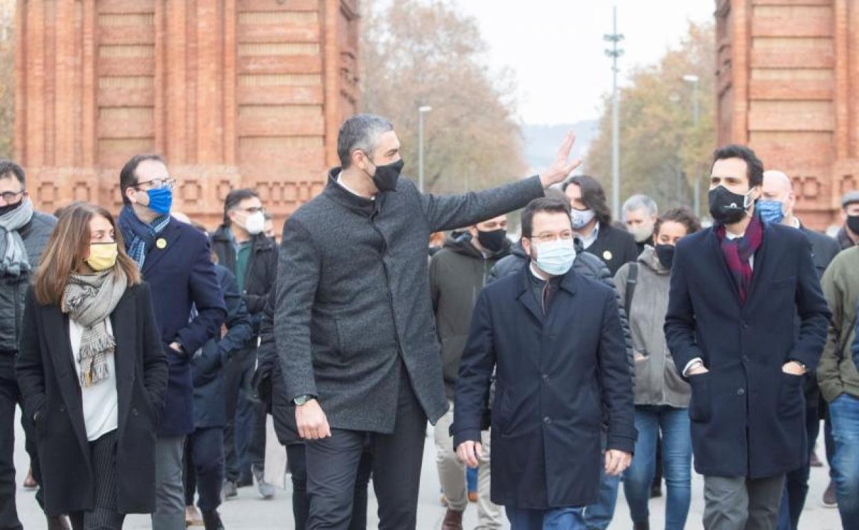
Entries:
{"type": "Polygon", "coordinates": [[[427,419],[448,409],[430,302],[430,234],[525,206],[564,180],[551,168],[484,192],[436,197],[400,179],[387,119],[359,114],[338,134],[342,168],[289,217],[277,270],[275,334],[299,434],[308,440],[308,529],[346,528],[369,440],[380,528],[413,528],[427,419]],[[392,465],[391,455],[397,462],[392,465]]]}

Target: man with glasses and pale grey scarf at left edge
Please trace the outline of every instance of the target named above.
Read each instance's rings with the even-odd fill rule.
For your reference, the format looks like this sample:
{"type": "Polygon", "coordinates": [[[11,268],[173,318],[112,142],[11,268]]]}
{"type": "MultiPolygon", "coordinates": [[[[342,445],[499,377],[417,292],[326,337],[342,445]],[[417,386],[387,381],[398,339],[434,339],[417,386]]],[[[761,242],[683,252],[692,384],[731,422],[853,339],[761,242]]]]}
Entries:
{"type": "MultiPolygon", "coordinates": [[[[0,528],[20,529],[15,509],[15,405],[21,393],[15,381],[15,356],[27,287],[33,281],[42,251],[57,219],[34,211],[25,188],[24,170],[14,161],[0,161],[0,528]]],[[[41,482],[30,411],[21,415],[33,477],[41,482]]],[[[42,503],[41,492],[36,500],[42,503]]],[[[59,517],[48,528],[66,528],[59,517]]]]}

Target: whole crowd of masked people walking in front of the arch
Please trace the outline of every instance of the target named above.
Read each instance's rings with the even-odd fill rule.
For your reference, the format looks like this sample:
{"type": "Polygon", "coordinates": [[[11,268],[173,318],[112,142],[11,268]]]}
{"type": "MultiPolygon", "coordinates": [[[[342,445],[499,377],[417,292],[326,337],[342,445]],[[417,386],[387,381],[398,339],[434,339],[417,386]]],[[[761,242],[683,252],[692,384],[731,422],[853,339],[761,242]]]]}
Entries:
{"type": "Polygon", "coordinates": [[[222,529],[238,488],[276,495],[269,416],[297,529],[367,527],[369,484],[380,528],[416,527],[428,423],[442,530],[470,498],[479,528],[605,530],[621,484],[647,530],[663,478],[679,530],[693,466],[708,530],[795,530],[821,423],[825,497],[859,528],[859,191],[829,237],[728,145],[710,219],[637,194],[615,222],[574,142],[436,196],[400,178],[387,119],[353,116],[279,245],[252,189],[211,231],[176,211],[158,155],[120,170],[118,216],[36,211],[0,161],[0,530],[21,528],[18,406],[51,530],[222,529]]]}

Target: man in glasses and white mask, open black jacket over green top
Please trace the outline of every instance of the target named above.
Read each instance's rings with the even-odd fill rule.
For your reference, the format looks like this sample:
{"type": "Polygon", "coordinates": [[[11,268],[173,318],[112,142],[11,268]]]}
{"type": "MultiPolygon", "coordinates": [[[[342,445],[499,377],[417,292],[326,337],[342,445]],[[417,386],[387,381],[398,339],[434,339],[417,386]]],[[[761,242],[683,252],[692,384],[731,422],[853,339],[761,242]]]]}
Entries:
{"type": "MultiPolygon", "coordinates": [[[[236,352],[226,372],[224,393],[227,399],[227,428],[224,429],[224,449],[226,451],[226,477],[223,494],[227,498],[235,497],[239,484],[253,484],[257,481],[259,496],[270,499],[274,496],[274,487],[265,482],[265,405],[259,400],[249,402],[253,368],[256,365],[256,349],[259,338],[259,322],[262,320],[265,302],[274,288],[277,277],[277,247],[270,237],[265,235],[265,208],[259,200],[259,195],[251,189],[239,189],[229,192],[223,204],[223,224],[218,227],[211,237],[212,250],[216,253],[218,263],[227,267],[235,274],[239,283],[239,292],[247,305],[247,312],[253,320],[253,338],[246,344],[244,350],[236,352]],[[246,390],[244,395],[240,389],[246,390]],[[251,411],[253,428],[250,432],[235,429],[236,410],[251,411]],[[239,436],[244,435],[247,444],[236,443],[239,436]],[[245,451],[238,450],[247,445],[247,460],[250,460],[249,476],[242,477],[240,470],[241,456],[245,451]]],[[[259,379],[259,377],[258,377],[259,379]]],[[[245,422],[239,421],[239,424],[245,422]]]]}

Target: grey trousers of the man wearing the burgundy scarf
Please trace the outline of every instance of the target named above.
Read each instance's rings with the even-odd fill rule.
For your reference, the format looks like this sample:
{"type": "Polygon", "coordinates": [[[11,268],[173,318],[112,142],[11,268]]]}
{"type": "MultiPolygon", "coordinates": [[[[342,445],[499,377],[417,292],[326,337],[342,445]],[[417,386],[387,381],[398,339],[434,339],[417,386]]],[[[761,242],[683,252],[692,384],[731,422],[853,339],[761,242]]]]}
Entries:
{"type": "Polygon", "coordinates": [[[706,530],[775,530],[784,475],[704,477],[706,530]]]}

